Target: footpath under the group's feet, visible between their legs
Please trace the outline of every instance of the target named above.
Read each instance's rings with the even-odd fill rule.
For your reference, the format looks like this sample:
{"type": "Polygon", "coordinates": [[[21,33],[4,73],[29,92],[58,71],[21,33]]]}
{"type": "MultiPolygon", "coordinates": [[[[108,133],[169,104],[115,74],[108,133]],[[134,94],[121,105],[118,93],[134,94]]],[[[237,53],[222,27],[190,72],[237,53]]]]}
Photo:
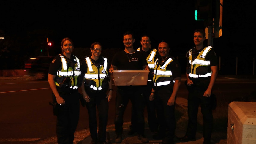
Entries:
{"type": "MultiPolygon", "coordinates": [[[[180,107],[187,107],[187,99],[184,98],[180,98],[177,97],[176,98],[176,106],[180,106],[180,107]]],[[[137,138],[137,133],[135,133],[134,135],[128,135],[128,131],[129,131],[129,126],[130,126],[130,122],[125,122],[123,125],[123,135],[122,135],[122,142],[121,144],[145,144],[142,143],[140,140],[138,140],[137,138]]],[[[184,129],[179,129],[178,127],[176,127],[176,138],[174,139],[175,144],[202,144],[203,143],[203,135],[201,133],[196,133],[196,141],[190,141],[190,142],[185,142],[185,143],[181,143],[178,141],[179,137],[183,137],[186,133],[186,130],[184,129]]],[[[161,142],[161,140],[154,140],[152,138],[152,136],[154,135],[153,132],[151,132],[148,127],[145,127],[145,137],[148,138],[149,142],[147,144],[158,144],[159,142],[161,142]]],[[[89,128],[88,129],[83,129],[80,131],[76,131],[75,134],[75,139],[74,139],[74,144],[90,144],[91,143],[91,137],[90,137],[90,132],[89,132],[89,128]]],[[[116,139],[116,134],[115,134],[115,128],[114,128],[114,124],[108,125],[107,126],[107,142],[108,144],[116,144],[115,143],[115,139],[116,139]]],[[[57,137],[50,137],[48,139],[44,139],[41,141],[38,141],[36,143],[33,144],[57,144],[57,137]]],[[[214,140],[211,140],[211,143],[216,143],[216,144],[226,144],[227,140],[221,140],[221,143],[216,142],[214,140]]]]}

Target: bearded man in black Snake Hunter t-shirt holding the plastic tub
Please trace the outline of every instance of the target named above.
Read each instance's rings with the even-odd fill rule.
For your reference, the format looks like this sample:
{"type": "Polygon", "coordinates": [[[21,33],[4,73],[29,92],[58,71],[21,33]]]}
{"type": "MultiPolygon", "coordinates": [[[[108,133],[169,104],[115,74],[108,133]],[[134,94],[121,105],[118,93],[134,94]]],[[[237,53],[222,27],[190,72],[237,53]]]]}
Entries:
{"type": "MultiPolygon", "coordinates": [[[[113,70],[149,70],[146,57],[142,53],[133,49],[134,41],[135,39],[132,33],[124,33],[123,43],[125,49],[116,53],[113,57],[111,67],[109,69],[110,74],[113,73],[113,70]]],[[[143,115],[144,107],[141,86],[117,86],[115,118],[116,143],[122,142],[124,123],[123,115],[129,100],[131,100],[132,107],[136,111],[138,139],[143,143],[147,143],[148,139],[144,136],[145,121],[143,115]]]]}

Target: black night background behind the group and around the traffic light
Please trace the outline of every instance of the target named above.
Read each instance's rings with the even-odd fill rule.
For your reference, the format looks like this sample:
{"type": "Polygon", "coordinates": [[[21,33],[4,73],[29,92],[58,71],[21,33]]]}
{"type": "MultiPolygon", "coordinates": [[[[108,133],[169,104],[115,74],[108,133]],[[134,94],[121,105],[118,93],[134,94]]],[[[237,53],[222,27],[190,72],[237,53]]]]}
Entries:
{"type": "MultiPolygon", "coordinates": [[[[252,74],[255,2],[225,0],[223,5],[222,37],[213,39],[222,73],[234,74],[238,57],[239,73],[252,74]]],[[[148,34],[152,48],[167,40],[181,58],[193,46],[193,31],[203,28],[194,19],[193,0],[9,0],[1,1],[0,7],[0,58],[8,62],[1,69],[23,68],[27,58],[47,55],[47,37],[53,42],[49,54],[55,56],[64,37],[73,39],[75,48],[86,49],[99,41],[103,49],[123,49],[122,34],[127,30],[135,34],[135,48],[140,47],[140,36],[148,34]]]]}

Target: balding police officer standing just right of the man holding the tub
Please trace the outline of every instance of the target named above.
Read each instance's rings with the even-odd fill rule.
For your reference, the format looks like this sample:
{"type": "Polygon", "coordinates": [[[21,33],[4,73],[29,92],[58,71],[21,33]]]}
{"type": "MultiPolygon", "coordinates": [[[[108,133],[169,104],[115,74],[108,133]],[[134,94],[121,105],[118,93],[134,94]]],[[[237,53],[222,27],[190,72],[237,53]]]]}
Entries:
{"type": "Polygon", "coordinates": [[[164,138],[160,143],[172,144],[176,128],[174,104],[181,83],[181,69],[178,60],[170,57],[167,42],[159,43],[158,52],[160,58],[154,64],[154,86],[149,99],[156,100],[158,138],[164,138]]]}

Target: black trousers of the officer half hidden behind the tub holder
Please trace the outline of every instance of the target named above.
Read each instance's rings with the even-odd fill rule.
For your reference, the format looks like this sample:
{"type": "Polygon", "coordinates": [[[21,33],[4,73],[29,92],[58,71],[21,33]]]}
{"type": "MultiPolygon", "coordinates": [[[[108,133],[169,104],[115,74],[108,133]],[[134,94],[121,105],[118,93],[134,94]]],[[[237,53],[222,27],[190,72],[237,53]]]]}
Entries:
{"type": "MultiPolygon", "coordinates": [[[[146,86],[141,86],[142,94],[144,98],[144,108],[147,106],[147,113],[148,113],[148,127],[151,130],[151,132],[158,131],[158,121],[157,121],[157,115],[156,115],[156,101],[150,101],[149,96],[151,94],[153,87],[153,81],[150,81],[147,83],[146,86]]],[[[134,131],[136,130],[137,124],[137,116],[135,115],[135,111],[132,107],[132,117],[131,117],[131,129],[134,131]]]]}

